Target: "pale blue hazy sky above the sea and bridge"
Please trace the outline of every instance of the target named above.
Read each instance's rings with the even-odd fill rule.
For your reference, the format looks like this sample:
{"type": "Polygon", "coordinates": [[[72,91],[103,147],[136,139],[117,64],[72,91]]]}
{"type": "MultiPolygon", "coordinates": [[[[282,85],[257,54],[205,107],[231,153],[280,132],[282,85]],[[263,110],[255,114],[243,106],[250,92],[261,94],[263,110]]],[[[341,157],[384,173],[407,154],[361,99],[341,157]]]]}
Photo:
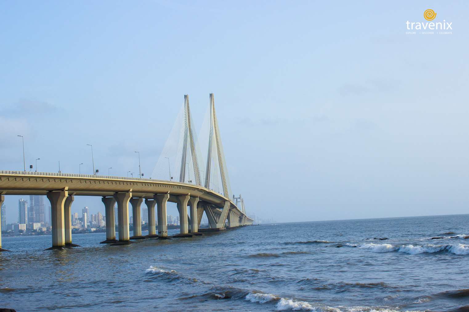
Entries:
{"type": "MultiPolygon", "coordinates": [[[[278,221],[469,212],[465,1],[0,1],[0,170],[151,174],[215,94],[231,186],[278,221]],[[453,22],[406,35],[406,21],[453,22]]],[[[8,222],[17,218],[8,196],[8,222]]],[[[76,198],[72,211],[104,207],[76,198]]]]}

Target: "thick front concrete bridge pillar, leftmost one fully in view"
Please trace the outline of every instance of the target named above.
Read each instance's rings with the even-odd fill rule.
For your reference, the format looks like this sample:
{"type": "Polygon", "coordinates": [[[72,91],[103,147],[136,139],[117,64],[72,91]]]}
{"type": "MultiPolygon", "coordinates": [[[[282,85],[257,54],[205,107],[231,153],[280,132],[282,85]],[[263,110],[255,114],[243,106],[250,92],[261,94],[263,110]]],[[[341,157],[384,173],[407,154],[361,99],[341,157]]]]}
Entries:
{"type": "Polygon", "coordinates": [[[62,249],[65,246],[64,204],[67,196],[68,187],[60,191],[47,192],[52,219],[52,247],[47,249],[62,249]]]}

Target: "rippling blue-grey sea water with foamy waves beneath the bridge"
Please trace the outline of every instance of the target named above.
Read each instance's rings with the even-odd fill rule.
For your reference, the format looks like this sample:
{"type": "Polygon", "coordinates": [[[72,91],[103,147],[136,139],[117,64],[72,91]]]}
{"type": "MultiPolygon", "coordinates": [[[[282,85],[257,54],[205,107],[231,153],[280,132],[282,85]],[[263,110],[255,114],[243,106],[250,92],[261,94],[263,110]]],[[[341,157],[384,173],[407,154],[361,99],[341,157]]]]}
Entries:
{"type": "MultiPolygon", "coordinates": [[[[170,234],[177,230],[170,230],[170,234]]],[[[144,233],[145,235],[146,233],[144,233]]],[[[469,215],[248,226],[45,251],[3,238],[0,308],[16,311],[468,311],[469,215]]]]}

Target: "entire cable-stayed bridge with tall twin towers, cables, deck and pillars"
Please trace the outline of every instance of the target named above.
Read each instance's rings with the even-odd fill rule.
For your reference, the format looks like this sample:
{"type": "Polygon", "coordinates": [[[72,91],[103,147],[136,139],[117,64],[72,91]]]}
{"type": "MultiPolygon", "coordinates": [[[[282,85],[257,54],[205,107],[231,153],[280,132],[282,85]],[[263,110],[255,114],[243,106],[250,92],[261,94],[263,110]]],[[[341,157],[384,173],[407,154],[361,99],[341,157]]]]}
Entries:
{"type": "MultiPolygon", "coordinates": [[[[27,171],[0,171],[0,207],[8,195],[45,195],[51,204],[52,247],[75,247],[72,243],[71,205],[74,196],[100,196],[106,211],[106,240],[111,245],[129,244],[132,239],[167,239],[166,203],[176,203],[180,219],[180,233],[174,237],[192,237],[201,232],[222,231],[227,228],[252,225],[253,219],[246,215],[242,196],[231,194],[226,162],[221,145],[218,121],[215,114],[214,96],[210,94],[208,145],[205,170],[199,169],[203,159],[191,122],[189,96],[184,96],[181,126],[177,123],[173,132],[179,143],[171,137],[159,157],[151,178],[144,179],[95,174],[38,173],[27,171]],[[179,181],[171,176],[170,158],[166,157],[168,146],[176,146],[176,172],[179,181]],[[164,163],[164,160],[167,162],[164,163]],[[166,175],[169,180],[158,179],[166,175]],[[204,179],[200,173],[204,173],[204,179]],[[191,180],[190,177],[194,177],[191,180]],[[221,189],[219,186],[221,185],[221,189]],[[141,204],[148,207],[148,235],[142,236],[141,204]],[[117,203],[118,232],[116,239],[114,206],[117,203]],[[132,206],[133,236],[129,231],[129,203],[132,206]],[[241,204],[241,207],[238,207],[241,204]],[[155,214],[156,207],[156,214],[155,214]],[[188,213],[189,208],[189,213],[188,213]],[[209,228],[200,228],[203,214],[209,228]],[[158,222],[156,222],[158,220],[158,222]],[[158,229],[158,234],[157,234],[158,229]]],[[[94,168],[93,168],[94,170],[94,168]]],[[[174,168],[173,168],[174,172],[174,168]]],[[[0,228],[1,250],[1,228],[0,228]]]]}

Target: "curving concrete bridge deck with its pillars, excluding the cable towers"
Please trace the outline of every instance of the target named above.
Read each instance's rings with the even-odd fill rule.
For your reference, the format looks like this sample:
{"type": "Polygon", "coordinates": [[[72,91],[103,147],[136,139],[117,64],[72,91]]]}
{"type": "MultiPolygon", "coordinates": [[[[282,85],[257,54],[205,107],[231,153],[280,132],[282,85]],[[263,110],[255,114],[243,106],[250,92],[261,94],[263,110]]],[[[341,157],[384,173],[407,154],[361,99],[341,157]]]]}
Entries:
{"type": "MultiPolygon", "coordinates": [[[[5,195],[45,195],[51,203],[52,249],[76,246],[72,243],[71,204],[74,196],[100,196],[106,208],[106,240],[113,245],[129,244],[130,239],[144,239],[141,230],[140,205],[148,207],[146,237],[167,238],[166,203],[177,203],[180,233],[174,237],[200,235],[203,213],[210,228],[200,231],[220,231],[244,225],[253,220],[227,197],[202,186],[153,179],[99,176],[86,174],[56,174],[23,171],[0,171],[0,206],[5,195]],[[117,203],[119,240],[116,240],[114,205],[117,203]],[[132,205],[134,236],[129,237],[129,203],[132,205]],[[157,206],[158,234],[156,234],[157,206]],[[188,215],[189,206],[189,215],[188,215]]],[[[1,228],[0,228],[1,235],[1,228]]],[[[1,236],[0,236],[1,250],[1,236]]]]}

